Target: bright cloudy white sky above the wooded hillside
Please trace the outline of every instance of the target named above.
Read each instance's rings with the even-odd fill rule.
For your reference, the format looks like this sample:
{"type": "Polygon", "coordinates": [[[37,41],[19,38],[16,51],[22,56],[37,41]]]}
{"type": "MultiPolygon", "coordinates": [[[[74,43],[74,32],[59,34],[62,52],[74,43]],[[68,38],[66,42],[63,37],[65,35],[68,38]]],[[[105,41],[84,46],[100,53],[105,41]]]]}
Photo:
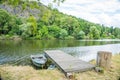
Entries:
{"type": "MultiPolygon", "coordinates": [[[[51,0],[41,0],[45,5],[51,0]]],[[[105,26],[120,27],[120,0],[66,0],[60,6],[53,4],[60,12],[105,26]]]]}

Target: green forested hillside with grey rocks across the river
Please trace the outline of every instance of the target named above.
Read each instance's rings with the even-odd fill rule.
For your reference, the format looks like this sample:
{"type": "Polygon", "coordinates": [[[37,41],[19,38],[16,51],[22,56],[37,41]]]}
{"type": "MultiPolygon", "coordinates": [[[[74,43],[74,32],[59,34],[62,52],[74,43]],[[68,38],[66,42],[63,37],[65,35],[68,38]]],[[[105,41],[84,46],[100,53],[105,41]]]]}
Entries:
{"type": "Polygon", "coordinates": [[[51,5],[36,1],[0,0],[0,39],[15,36],[22,39],[120,39],[120,28],[63,14],[51,5]]]}

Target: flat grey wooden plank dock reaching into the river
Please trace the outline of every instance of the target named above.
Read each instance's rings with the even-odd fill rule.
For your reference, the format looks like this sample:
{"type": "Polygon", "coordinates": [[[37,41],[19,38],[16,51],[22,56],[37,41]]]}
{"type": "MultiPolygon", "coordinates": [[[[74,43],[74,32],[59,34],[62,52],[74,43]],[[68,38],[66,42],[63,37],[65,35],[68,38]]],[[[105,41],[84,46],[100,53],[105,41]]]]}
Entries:
{"type": "Polygon", "coordinates": [[[60,50],[47,50],[45,51],[45,55],[50,58],[65,74],[82,72],[95,67],[88,62],[82,61],[60,50]]]}

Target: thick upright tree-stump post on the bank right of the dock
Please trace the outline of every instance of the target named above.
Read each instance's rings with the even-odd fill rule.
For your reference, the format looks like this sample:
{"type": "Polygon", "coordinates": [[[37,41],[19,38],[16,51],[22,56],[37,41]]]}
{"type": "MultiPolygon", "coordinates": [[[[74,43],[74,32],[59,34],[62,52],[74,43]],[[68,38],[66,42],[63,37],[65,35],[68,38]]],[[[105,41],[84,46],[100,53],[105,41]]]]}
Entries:
{"type": "Polygon", "coordinates": [[[97,65],[105,69],[110,68],[112,53],[107,51],[99,51],[97,53],[97,65]]]}

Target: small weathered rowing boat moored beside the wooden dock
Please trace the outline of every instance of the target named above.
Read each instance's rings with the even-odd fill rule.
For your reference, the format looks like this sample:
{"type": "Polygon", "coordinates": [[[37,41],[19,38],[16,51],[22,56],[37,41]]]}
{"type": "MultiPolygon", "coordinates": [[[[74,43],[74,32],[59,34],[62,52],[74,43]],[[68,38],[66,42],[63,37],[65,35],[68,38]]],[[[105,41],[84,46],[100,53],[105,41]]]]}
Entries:
{"type": "Polygon", "coordinates": [[[47,58],[41,54],[41,55],[31,55],[31,60],[33,64],[37,67],[43,67],[44,64],[47,62],[47,58]]]}

